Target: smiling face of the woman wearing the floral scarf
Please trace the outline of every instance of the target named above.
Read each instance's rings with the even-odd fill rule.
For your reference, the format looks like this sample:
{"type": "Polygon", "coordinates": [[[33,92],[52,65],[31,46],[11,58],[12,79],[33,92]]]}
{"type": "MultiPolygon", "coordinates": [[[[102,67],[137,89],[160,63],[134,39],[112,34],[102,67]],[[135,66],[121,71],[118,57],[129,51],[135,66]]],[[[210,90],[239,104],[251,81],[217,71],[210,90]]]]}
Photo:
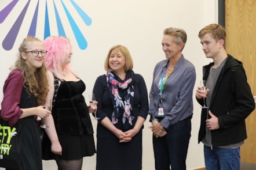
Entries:
{"type": "Polygon", "coordinates": [[[110,69],[116,73],[122,73],[125,72],[125,64],[125,55],[123,55],[123,52],[117,48],[112,50],[108,59],[110,69]]]}

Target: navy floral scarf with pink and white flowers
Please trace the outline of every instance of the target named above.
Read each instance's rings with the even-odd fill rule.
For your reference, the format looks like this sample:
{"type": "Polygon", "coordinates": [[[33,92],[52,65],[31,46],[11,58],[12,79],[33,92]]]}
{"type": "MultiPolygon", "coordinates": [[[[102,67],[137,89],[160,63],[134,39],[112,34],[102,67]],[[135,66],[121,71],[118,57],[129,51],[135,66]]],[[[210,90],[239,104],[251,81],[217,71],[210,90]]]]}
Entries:
{"type": "Polygon", "coordinates": [[[114,105],[114,112],[112,113],[112,123],[118,123],[118,118],[122,115],[122,122],[125,124],[128,120],[130,125],[133,125],[132,120],[134,116],[132,114],[132,104],[134,96],[134,72],[132,70],[127,71],[125,80],[121,80],[114,71],[109,70],[107,72],[107,83],[109,89],[109,98],[114,105]]]}

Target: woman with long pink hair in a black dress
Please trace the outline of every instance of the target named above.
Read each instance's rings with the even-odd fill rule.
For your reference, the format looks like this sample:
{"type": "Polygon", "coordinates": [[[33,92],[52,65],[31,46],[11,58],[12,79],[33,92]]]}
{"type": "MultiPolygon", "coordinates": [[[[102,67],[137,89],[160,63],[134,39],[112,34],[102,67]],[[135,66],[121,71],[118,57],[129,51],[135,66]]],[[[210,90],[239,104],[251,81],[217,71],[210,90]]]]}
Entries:
{"type": "MultiPolygon", "coordinates": [[[[49,99],[53,99],[42,139],[43,160],[56,160],[58,169],[82,169],[83,157],[96,153],[93,127],[82,93],[85,83],[70,66],[72,46],[61,36],[45,39],[45,63],[49,78],[49,99]],[[51,152],[52,151],[52,152],[51,152]]],[[[94,108],[94,109],[97,109],[94,108]]]]}

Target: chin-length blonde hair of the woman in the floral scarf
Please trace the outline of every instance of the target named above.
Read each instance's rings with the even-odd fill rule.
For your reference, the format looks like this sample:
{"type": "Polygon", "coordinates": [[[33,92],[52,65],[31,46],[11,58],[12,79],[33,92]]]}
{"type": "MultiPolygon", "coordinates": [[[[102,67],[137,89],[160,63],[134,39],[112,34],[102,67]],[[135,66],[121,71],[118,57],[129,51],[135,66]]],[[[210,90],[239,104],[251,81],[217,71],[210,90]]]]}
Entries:
{"type": "Polygon", "coordinates": [[[125,56],[125,71],[126,72],[133,69],[133,59],[131,58],[131,54],[130,54],[129,50],[125,46],[116,45],[116,46],[111,47],[110,50],[108,51],[108,55],[107,55],[107,58],[105,59],[105,63],[104,63],[104,69],[106,71],[111,70],[111,68],[108,65],[108,61],[109,61],[110,54],[113,50],[120,50],[123,53],[123,55],[125,56]]]}

